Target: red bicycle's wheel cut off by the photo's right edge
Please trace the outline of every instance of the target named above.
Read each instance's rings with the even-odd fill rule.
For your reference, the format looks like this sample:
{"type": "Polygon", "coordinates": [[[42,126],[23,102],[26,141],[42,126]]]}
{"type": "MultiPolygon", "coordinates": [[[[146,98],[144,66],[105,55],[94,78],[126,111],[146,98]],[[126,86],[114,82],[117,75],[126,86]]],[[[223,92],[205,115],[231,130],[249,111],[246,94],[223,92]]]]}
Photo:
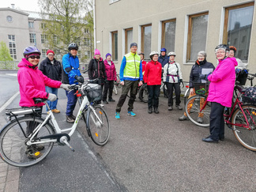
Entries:
{"type": "MultiPolygon", "coordinates": [[[[251,151],[256,151],[256,106],[243,105],[243,111],[249,122],[249,128],[232,125],[233,134],[241,145],[251,151]]],[[[232,115],[232,124],[247,126],[247,122],[240,108],[237,108],[232,115]]]]}

